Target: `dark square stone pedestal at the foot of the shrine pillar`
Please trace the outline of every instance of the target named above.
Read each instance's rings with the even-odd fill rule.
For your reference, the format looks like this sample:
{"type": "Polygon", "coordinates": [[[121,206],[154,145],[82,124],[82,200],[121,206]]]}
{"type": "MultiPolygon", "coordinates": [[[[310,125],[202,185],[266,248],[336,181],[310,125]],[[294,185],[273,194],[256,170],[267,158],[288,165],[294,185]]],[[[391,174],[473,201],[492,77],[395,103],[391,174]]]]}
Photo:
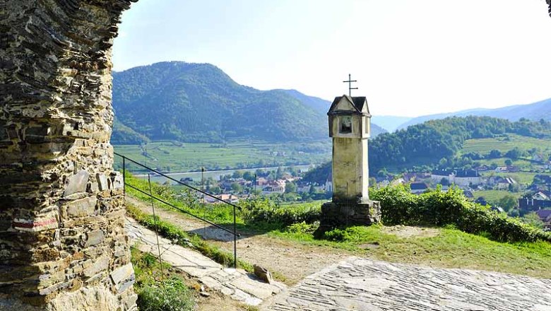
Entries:
{"type": "Polygon", "coordinates": [[[379,223],[380,220],[381,204],[379,201],[327,202],[321,206],[319,228],[321,232],[325,232],[341,225],[372,225],[379,223]]]}

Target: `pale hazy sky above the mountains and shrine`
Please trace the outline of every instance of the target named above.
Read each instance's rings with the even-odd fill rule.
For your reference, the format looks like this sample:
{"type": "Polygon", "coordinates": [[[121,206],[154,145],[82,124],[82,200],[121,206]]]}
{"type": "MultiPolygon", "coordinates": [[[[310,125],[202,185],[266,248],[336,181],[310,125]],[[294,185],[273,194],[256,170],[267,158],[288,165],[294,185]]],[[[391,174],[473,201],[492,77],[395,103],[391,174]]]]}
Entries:
{"type": "Polygon", "coordinates": [[[139,0],[114,69],[211,63],[237,83],[332,100],[352,74],[374,115],[551,98],[545,0],[139,0]]]}

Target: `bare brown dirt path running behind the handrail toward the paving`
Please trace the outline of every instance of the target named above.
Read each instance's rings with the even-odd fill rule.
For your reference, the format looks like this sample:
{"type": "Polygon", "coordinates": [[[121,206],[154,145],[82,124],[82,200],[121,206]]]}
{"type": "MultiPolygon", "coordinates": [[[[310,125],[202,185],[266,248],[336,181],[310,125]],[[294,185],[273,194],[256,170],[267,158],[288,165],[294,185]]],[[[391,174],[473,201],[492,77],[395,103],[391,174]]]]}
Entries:
{"type": "MultiPolygon", "coordinates": [[[[143,201],[126,196],[126,201],[143,213],[151,214],[151,206],[143,201]]],[[[205,223],[184,215],[178,211],[155,209],[161,219],[178,225],[189,233],[201,235],[213,244],[232,252],[233,235],[213,227],[206,227],[205,223]]],[[[237,240],[237,257],[251,264],[258,264],[271,271],[282,281],[291,285],[302,278],[314,274],[326,266],[336,264],[349,257],[350,252],[311,245],[300,245],[266,235],[244,233],[237,240]]]]}

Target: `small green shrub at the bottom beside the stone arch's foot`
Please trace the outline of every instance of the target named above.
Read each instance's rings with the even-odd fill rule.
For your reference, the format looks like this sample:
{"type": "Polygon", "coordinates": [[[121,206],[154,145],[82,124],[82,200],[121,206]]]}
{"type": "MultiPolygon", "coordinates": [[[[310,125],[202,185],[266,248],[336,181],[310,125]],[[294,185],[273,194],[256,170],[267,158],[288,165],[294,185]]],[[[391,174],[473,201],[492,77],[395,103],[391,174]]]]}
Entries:
{"type": "Polygon", "coordinates": [[[195,306],[191,291],[176,276],[146,283],[138,291],[137,303],[141,311],[191,311],[195,306]]]}

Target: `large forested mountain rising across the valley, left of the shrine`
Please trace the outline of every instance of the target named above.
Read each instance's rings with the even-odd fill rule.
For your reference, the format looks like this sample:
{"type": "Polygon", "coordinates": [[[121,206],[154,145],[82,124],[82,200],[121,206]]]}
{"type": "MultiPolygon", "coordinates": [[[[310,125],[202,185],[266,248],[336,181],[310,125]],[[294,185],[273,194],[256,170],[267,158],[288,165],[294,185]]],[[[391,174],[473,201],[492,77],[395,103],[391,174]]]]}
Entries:
{"type": "Polygon", "coordinates": [[[239,85],[211,64],[162,62],[113,74],[112,142],[316,141],[327,139],[330,105],[296,90],[239,85]]]}

